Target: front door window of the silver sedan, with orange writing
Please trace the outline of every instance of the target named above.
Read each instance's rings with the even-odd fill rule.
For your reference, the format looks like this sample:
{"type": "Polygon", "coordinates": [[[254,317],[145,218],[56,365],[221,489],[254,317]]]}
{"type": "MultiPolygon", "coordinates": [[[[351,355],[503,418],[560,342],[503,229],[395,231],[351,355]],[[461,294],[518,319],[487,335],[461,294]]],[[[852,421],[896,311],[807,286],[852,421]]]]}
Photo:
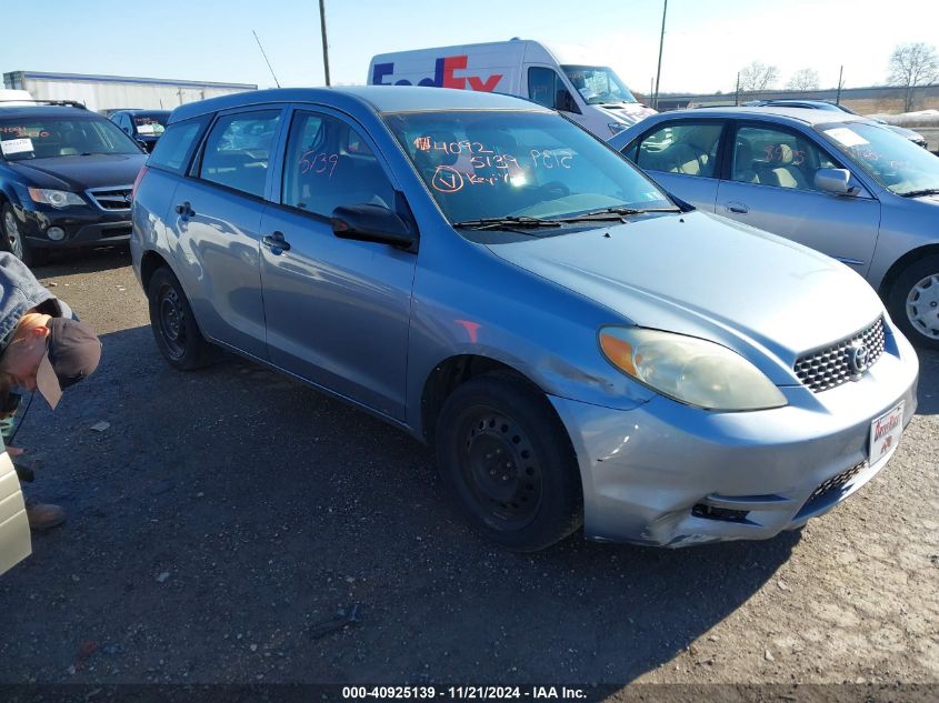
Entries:
{"type": "Polygon", "coordinates": [[[737,130],[730,179],[793,190],[818,190],[818,169],[838,168],[821,149],[796,132],[769,127],[737,130]]]}

